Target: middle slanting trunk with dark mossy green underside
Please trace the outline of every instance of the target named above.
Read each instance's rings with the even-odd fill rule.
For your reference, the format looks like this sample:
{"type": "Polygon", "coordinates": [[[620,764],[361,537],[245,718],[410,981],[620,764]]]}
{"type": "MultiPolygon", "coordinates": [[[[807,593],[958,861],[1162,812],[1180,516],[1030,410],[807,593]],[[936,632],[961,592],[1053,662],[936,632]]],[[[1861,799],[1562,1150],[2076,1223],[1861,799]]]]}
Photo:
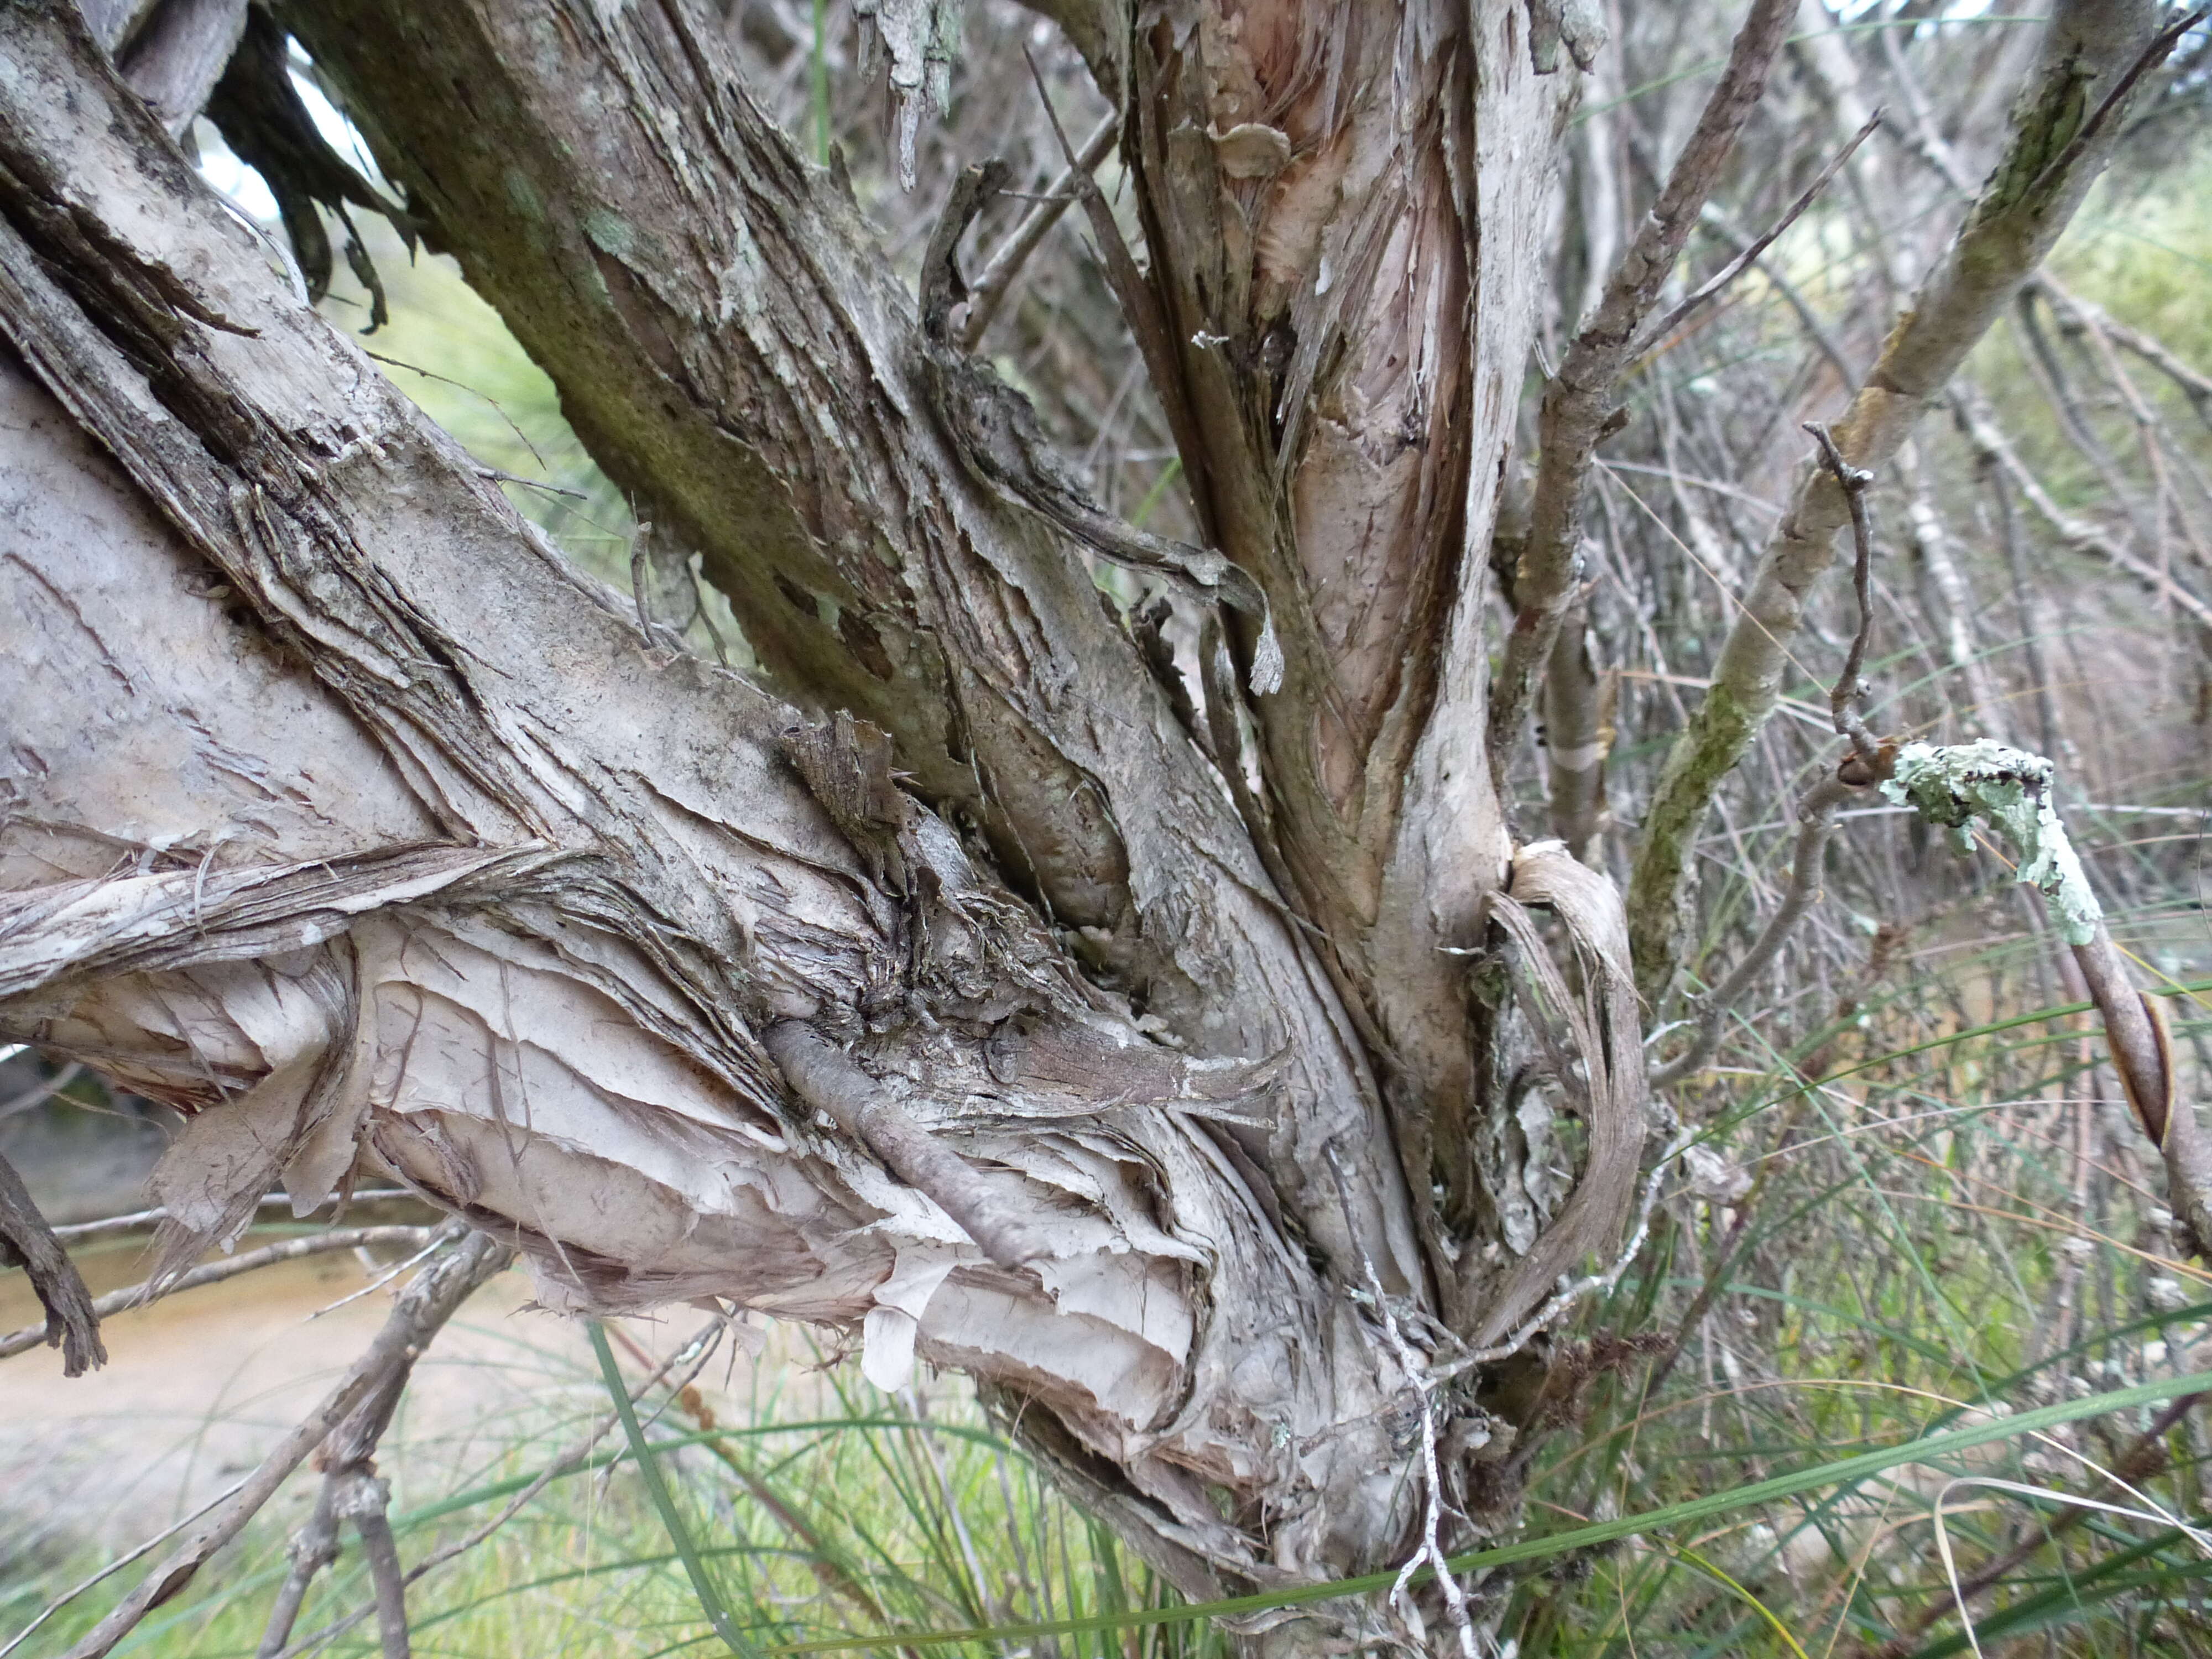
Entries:
{"type": "Polygon", "coordinates": [[[978,471],[962,438],[995,411],[949,407],[849,190],[723,42],[681,4],[288,20],[577,436],[699,551],[779,695],[889,732],[916,794],[1194,1053],[1283,1053],[1296,1108],[1241,1150],[1338,1272],[1356,1234],[1416,1287],[1371,1062],[1314,945],[1102,611],[1086,542],[978,471]],[[1349,1223],[1316,1186],[1332,1141],[1349,1223]]]}

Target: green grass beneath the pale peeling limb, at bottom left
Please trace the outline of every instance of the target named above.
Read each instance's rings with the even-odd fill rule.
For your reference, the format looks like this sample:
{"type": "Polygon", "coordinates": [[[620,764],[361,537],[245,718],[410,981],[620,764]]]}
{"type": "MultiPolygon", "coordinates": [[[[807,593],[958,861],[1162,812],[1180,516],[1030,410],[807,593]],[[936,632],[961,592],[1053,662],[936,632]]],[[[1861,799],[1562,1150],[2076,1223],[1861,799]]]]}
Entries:
{"type": "MultiPolygon", "coordinates": [[[[604,1387],[566,1352],[513,1340],[518,1354],[502,1367],[518,1380],[511,1409],[451,1438],[416,1438],[400,1420],[385,1440],[380,1467],[394,1484],[392,1524],[407,1564],[478,1528],[608,1411],[604,1387]],[[538,1383],[524,1387],[533,1369],[538,1383]]],[[[644,1378],[628,1356],[622,1374],[630,1387],[644,1378]]],[[[763,1374],[730,1422],[717,1420],[697,1389],[677,1398],[653,1389],[637,1407],[697,1564],[745,1650],[1084,1619],[1175,1601],[1148,1566],[1062,1502],[984,1422],[964,1385],[940,1378],[887,1396],[836,1367],[803,1376],[818,1387],[787,1391],[763,1374]]],[[[285,1542],[288,1522],[263,1517],[119,1652],[252,1655],[285,1575],[285,1542]]],[[[40,1566],[0,1571],[0,1606],[11,1624],[86,1571],[75,1559],[40,1566]]],[[[75,1601],[22,1652],[64,1652],[119,1595],[117,1586],[128,1586],[128,1573],[75,1601]]],[[[296,1639],[367,1599],[367,1575],[347,1551],[316,1582],[296,1639]]],[[[648,1659],[723,1646],[619,1429],[484,1544],[425,1577],[409,1595],[409,1615],[418,1655],[648,1659]]],[[[319,1648],[334,1659],[376,1650],[374,1619],[319,1648]]],[[[1212,1626],[1181,1624],[1024,1650],[1057,1659],[1217,1659],[1225,1641],[1212,1626]]],[[[1006,1648],[960,1644],[933,1652],[1006,1648]]]]}

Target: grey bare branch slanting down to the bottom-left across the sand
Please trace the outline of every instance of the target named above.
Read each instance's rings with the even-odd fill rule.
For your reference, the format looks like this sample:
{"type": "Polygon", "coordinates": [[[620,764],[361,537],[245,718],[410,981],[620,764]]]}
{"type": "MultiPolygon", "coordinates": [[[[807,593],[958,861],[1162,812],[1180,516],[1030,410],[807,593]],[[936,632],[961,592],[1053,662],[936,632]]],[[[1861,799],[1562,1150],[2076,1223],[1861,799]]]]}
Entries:
{"type": "Polygon", "coordinates": [[[425,1267],[369,1343],[323,1402],[301,1420],[239,1486],[237,1495],[186,1535],[91,1635],[69,1650],[69,1659],[104,1659],[139,1619],[184,1590],[199,1568],[223,1544],[243,1531],[261,1506],[276,1495],[285,1478],[314,1451],[323,1438],[365,1400],[394,1367],[420,1354],[431,1336],[460,1310],[469,1294],[500,1272],[513,1252],[487,1234],[469,1234],[449,1256],[425,1267]]]}

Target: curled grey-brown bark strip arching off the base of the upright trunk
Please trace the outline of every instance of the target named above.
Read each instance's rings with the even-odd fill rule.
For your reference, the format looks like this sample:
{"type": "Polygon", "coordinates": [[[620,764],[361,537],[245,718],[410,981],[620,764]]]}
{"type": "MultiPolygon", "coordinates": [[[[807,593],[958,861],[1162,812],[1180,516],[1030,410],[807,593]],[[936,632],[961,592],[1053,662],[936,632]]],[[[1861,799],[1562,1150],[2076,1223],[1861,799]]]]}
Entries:
{"type": "Polygon", "coordinates": [[[1575,1192],[1537,1234],[1528,1254],[1489,1298],[1475,1347],[1486,1347],[1551,1294],[1553,1283],[1593,1250],[1610,1252],[1635,1203],[1644,1157],[1644,1048],[1637,1020],[1635,973],[1628,964],[1628,927],[1613,880],[1577,863],[1557,841],[1537,841],[1513,854],[1513,883],[1491,898],[1544,1000],[1566,1020],[1588,1077],[1588,1157],[1575,1192]],[[1582,991],[1551,960],[1528,914],[1546,905],[1566,927],[1582,991]]]}

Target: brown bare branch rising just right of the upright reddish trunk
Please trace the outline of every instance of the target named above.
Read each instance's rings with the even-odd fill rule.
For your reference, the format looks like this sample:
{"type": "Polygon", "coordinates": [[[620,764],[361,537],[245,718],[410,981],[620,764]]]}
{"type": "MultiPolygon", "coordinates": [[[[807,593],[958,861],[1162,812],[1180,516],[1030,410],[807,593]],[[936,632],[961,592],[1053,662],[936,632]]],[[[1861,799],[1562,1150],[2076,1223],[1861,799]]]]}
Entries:
{"type": "Polygon", "coordinates": [[[1783,46],[1796,7],[1790,0],[1752,0],[1736,33],[1721,84],[1683,146],[1666,188],[1644,219],[1644,230],[1621,254],[1597,314],[1575,336],[1544,392],[1542,462],[1528,520],[1528,542],[1513,577],[1513,633],[1491,679],[1489,757],[1502,783],[1520,728],[1528,717],[1535,677],[1582,577],[1582,504],[1597,445],[1617,429],[1617,385],[1637,356],[1635,341],[1659,299],[1699,210],[1721,177],[1767,86],[1767,71],[1783,46]]]}

